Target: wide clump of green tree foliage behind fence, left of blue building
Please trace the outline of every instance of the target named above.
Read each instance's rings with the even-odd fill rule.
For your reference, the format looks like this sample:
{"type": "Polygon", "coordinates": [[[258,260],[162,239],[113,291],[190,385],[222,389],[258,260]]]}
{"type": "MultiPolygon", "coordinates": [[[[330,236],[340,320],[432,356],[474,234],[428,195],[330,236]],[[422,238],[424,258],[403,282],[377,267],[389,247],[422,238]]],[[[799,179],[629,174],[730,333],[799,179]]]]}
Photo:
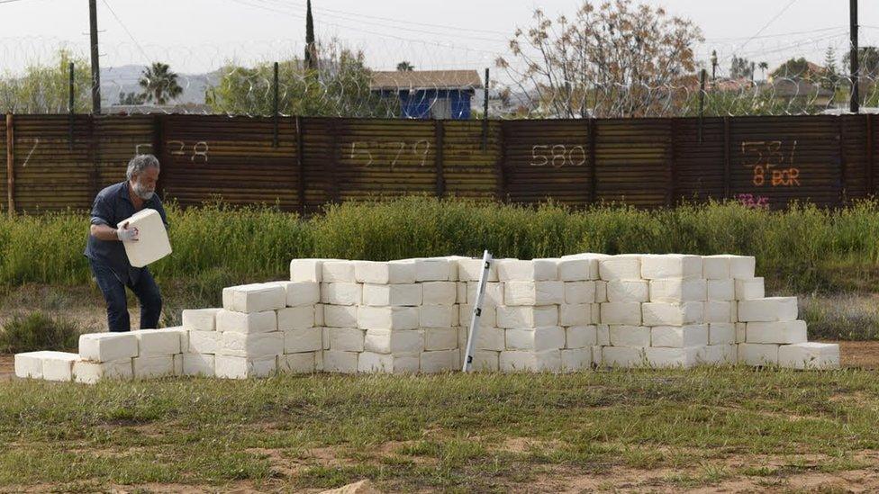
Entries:
{"type": "MultiPolygon", "coordinates": [[[[360,51],[343,49],[337,40],[317,43],[321,55],[318,69],[309,69],[304,59],[278,63],[278,111],[304,116],[394,117],[399,99],[382,99],[369,89],[372,72],[364,65],[360,51]]],[[[216,112],[271,115],[274,64],[241,67],[227,64],[215,87],[205,94],[216,112]]]]}

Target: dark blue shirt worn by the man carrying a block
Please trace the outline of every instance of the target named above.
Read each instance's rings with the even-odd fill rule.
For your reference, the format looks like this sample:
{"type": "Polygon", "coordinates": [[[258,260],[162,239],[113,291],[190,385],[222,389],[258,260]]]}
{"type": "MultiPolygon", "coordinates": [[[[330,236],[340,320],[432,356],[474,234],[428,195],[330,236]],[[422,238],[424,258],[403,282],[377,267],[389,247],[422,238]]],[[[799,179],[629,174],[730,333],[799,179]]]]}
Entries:
{"type": "MultiPolygon", "coordinates": [[[[168,227],[168,217],[165,215],[165,208],[159,200],[159,195],[153,194],[149,201],[143,202],[142,209],[153,209],[159,211],[162,221],[168,227]]],[[[106,187],[95,196],[95,203],[92,205],[93,225],[108,225],[116,228],[116,225],[140,210],[134,209],[131,197],[128,193],[128,182],[121,184],[113,184],[106,187]]],[[[118,240],[99,240],[91,234],[88,235],[88,243],[86,244],[86,257],[95,262],[107,265],[113,270],[113,274],[119,278],[122,283],[137,283],[140,278],[140,272],[146,268],[133,267],[128,262],[128,256],[125,255],[125,247],[118,240]]]]}

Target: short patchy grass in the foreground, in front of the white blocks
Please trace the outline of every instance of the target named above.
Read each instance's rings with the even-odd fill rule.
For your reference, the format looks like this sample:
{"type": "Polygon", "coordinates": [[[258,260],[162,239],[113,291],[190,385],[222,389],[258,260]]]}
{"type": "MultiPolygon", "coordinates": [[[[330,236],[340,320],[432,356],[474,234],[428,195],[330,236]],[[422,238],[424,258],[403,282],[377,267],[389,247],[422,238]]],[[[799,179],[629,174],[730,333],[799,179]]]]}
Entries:
{"type": "Polygon", "coordinates": [[[879,448],[876,377],[703,368],[9,382],[0,486],[304,489],[367,478],[389,490],[500,492],[576,475],[627,481],[615,469],[674,472],[648,490],[771,484],[868,466],[856,454],[879,448]]]}

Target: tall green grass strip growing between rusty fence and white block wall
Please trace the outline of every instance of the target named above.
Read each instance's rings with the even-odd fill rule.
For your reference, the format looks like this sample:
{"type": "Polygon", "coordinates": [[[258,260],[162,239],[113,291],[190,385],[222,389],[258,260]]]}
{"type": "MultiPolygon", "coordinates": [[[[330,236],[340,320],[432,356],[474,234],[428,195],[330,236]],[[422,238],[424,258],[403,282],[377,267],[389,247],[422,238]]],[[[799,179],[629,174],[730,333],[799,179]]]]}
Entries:
{"type": "MultiPolygon", "coordinates": [[[[879,280],[879,202],[872,201],[837,211],[736,203],[572,211],[410,197],[340,204],[310,219],[221,204],[185,211],[169,204],[168,216],[174,254],[151,269],[164,282],[204,279],[205,286],[284,278],[295,257],[480,256],[485,248],[519,258],[584,251],[757,256],[769,287],[788,292],[869,292],[879,280]]],[[[85,211],[0,218],[0,287],[87,283],[86,231],[85,211]]]]}

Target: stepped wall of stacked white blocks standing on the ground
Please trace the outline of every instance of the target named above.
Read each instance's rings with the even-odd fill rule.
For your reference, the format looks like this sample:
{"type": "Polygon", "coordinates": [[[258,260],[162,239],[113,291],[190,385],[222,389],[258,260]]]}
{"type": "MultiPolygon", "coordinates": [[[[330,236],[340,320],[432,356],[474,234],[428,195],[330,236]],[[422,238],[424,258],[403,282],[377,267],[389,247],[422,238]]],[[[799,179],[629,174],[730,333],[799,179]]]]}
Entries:
{"type": "MultiPolygon", "coordinates": [[[[495,260],[473,368],[838,368],[838,346],[807,342],[796,299],[766,297],[754,267],[749,256],[495,260]]],[[[15,355],[15,373],[93,383],[457,371],[482,270],[459,256],[295,259],[290,281],[224,288],[222,308],[184,310],[182,327],[83,335],[78,354],[15,355]]]]}

